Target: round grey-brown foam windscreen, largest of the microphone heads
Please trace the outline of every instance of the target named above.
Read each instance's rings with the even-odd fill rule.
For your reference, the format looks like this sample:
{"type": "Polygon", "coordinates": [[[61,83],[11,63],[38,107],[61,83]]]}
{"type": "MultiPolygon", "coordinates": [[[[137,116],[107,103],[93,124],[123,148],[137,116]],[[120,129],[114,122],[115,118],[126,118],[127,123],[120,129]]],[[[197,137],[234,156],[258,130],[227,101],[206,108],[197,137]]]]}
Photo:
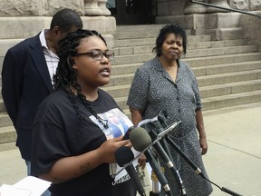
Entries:
{"type": "Polygon", "coordinates": [[[130,140],[133,148],[138,152],[145,150],[152,142],[149,133],[141,127],[132,130],[130,140]]]}

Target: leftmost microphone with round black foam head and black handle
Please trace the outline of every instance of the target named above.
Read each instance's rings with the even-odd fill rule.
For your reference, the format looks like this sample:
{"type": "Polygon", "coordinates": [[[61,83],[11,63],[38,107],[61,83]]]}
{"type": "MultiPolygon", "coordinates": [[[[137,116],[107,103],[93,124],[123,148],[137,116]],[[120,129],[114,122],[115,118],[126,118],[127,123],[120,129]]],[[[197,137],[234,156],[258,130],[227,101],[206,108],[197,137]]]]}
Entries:
{"type": "MultiPolygon", "coordinates": [[[[129,162],[132,162],[134,159],[134,154],[131,152],[131,149],[127,146],[121,146],[115,151],[115,159],[119,166],[124,167],[129,162]]],[[[131,181],[133,182],[136,190],[139,192],[140,195],[146,196],[146,193],[143,189],[143,186],[140,182],[139,176],[133,164],[131,163],[128,165],[125,170],[131,177],[131,181]]]]}

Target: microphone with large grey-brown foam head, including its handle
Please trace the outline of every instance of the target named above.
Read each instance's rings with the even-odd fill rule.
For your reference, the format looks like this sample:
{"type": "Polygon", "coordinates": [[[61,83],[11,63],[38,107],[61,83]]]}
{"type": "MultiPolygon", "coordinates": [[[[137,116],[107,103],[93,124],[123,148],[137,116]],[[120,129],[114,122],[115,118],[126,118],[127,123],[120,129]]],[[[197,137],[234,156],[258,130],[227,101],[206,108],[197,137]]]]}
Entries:
{"type": "MultiPolygon", "coordinates": [[[[138,127],[138,128],[135,128],[134,130],[132,130],[132,132],[130,134],[130,140],[131,140],[131,144],[132,144],[133,148],[138,152],[142,152],[152,142],[148,132],[141,127],[138,127]]],[[[160,165],[154,158],[153,152],[151,152],[151,150],[149,148],[147,151],[145,151],[143,153],[146,156],[148,162],[150,163],[150,167],[152,168],[152,170],[154,171],[158,180],[160,181],[160,184],[161,184],[163,190],[166,192],[167,195],[172,196],[168,181],[167,181],[166,177],[164,176],[164,174],[161,172],[160,165]]]]}

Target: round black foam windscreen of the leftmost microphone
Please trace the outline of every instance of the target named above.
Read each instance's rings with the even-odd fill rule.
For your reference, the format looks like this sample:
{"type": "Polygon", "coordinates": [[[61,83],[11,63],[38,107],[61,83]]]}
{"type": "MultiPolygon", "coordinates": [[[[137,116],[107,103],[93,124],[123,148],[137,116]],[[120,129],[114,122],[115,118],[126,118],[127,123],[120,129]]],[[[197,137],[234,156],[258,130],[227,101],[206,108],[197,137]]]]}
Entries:
{"type": "Polygon", "coordinates": [[[120,167],[123,167],[125,164],[131,162],[134,159],[134,154],[131,152],[129,147],[121,146],[115,151],[115,159],[117,164],[120,167]]]}

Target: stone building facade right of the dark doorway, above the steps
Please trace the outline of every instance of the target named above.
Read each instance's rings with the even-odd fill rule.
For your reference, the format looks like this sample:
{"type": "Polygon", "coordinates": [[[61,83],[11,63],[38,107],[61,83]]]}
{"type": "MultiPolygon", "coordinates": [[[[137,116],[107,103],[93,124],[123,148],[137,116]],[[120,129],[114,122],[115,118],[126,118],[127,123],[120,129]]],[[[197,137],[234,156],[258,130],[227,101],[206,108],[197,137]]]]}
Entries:
{"type": "Polygon", "coordinates": [[[192,4],[187,0],[158,0],[156,23],[178,22],[187,29],[200,32],[205,30],[220,40],[222,30],[226,28],[242,28],[244,37],[250,43],[259,45],[261,50],[261,1],[260,0],[198,0],[198,2],[232,8],[255,14],[245,15],[211,6],[192,4]],[[259,16],[259,17],[258,17],[259,16]],[[221,33],[220,33],[221,32],[221,33]]]}

